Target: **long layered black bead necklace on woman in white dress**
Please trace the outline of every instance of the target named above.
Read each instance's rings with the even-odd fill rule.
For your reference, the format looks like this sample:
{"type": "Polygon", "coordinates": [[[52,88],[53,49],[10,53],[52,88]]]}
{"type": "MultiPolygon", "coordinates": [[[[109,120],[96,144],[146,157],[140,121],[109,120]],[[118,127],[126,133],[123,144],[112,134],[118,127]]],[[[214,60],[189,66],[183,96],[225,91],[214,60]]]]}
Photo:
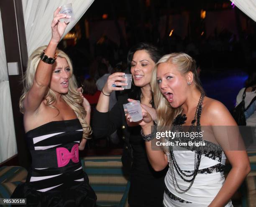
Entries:
{"type": "MultiPolygon", "coordinates": [[[[197,109],[196,109],[196,112],[195,112],[195,117],[194,117],[194,119],[191,122],[191,126],[189,127],[189,131],[192,131],[195,128],[195,123],[196,122],[197,122],[197,125],[196,125],[197,126],[197,130],[200,130],[200,117],[201,117],[202,102],[203,102],[204,97],[205,97],[205,94],[201,93],[199,102],[197,104],[197,109]]],[[[181,125],[185,123],[184,122],[185,120],[187,120],[185,114],[184,115],[181,115],[181,114],[178,115],[176,117],[176,119],[174,120],[174,123],[173,123],[174,128],[181,129],[181,125]]],[[[180,167],[177,164],[177,161],[176,161],[176,159],[174,157],[173,150],[170,150],[169,159],[170,159],[170,163],[171,163],[170,169],[171,169],[171,174],[172,174],[172,182],[173,182],[173,185],[174,185],[174,189],[176,190],[177,193],[183,194],[183,193],[187,192],[192,187],[192,184],[195,181],[195,177],[197,176],[198,171],[199,171],[199,166],[200,166],[200,162],[201,162],[201,156],[202,156],[202,151],[199,151],[199,150],[195,151],[195,167],[194,167],[194,171],[191,172],[191,171],[180,169],[180,167]],[[179,184],[177,182],[176,175],[175,175],[175,172],[174,172],[174,168],[175,168],[176,172],[179,174],[179,176],[185,182],[189,182],[190,183],[189,187],[187,189],[181,189],[179,187],[179,184]],[[187,178],[189,178],[189,179],[187,179],[187,178]],[[175,180],[175,183],[174,183],[174,180],[175,180]]]]}

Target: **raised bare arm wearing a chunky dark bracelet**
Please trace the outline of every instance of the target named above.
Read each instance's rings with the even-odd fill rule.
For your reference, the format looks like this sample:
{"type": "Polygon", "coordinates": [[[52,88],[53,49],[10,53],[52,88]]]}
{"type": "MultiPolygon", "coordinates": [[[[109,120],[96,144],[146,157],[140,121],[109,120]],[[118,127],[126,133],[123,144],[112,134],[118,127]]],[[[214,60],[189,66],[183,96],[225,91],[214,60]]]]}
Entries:
{"type": "MultiPolygon", "coordinates": [[[[60,7],[54,11],[54,18],[51,23],[52,36],[45,50],[45,55],[50,58],[54,58],[57,45],[67,28],[67,24],[61,23],[59,20],[61,18],[70,18],[65,14],[59,14],[59,11],[60,7]]],[[[42,60],[39,61],[33,85],[24,98],[24,112],[33,114],[39,108],[51,81],[52,68],[52,64],[45,63],[42,60]]]]}

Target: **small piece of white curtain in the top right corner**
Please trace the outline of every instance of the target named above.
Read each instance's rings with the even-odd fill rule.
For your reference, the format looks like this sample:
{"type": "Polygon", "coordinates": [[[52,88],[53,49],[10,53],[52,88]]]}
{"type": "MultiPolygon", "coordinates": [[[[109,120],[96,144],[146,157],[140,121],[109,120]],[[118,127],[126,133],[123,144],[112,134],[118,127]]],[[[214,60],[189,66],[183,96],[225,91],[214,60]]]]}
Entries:
{"type": "Polygon", "coordinates": [[[243,13],[245,13],[252,20],[256,21],[256,0],[230,0],[243,13]]]}

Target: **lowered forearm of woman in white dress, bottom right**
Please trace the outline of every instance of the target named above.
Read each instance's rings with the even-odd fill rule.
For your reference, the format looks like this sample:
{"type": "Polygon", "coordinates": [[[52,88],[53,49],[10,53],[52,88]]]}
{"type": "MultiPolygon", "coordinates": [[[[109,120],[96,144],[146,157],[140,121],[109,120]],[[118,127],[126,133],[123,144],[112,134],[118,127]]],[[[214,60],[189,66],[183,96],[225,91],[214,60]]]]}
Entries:
{"type": "Polygon", "coordinates": [[[228,201],[231,199],[233,194],[241,186],[248,172],[250,172],[250,166],[243,167],[243,168],[232,167],[232,169],[228,173],[227,179],[223,184],[223,187],[221,187],[220,191],[218,192],[216,197],[212,200],[209,207],[225,206],[225,204],[228,203],[228,201]]]}

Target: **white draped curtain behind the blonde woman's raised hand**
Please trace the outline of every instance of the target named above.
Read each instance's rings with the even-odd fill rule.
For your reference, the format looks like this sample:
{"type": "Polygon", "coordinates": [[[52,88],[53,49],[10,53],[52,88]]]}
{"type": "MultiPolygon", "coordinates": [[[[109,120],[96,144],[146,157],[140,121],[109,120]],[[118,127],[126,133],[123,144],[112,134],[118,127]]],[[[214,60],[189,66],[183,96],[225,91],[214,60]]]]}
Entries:
{"type": "MultiPolygon", "coordinates": [[[[66,33],[77,23],[94,0],[22,0],[28,56],[47,45],[51,39],[51,20],[60,5],[72,3],[76,20],[69,23],[66,33]]],[[[64,35],[65,35],[64,34],[64,35]]]]}

